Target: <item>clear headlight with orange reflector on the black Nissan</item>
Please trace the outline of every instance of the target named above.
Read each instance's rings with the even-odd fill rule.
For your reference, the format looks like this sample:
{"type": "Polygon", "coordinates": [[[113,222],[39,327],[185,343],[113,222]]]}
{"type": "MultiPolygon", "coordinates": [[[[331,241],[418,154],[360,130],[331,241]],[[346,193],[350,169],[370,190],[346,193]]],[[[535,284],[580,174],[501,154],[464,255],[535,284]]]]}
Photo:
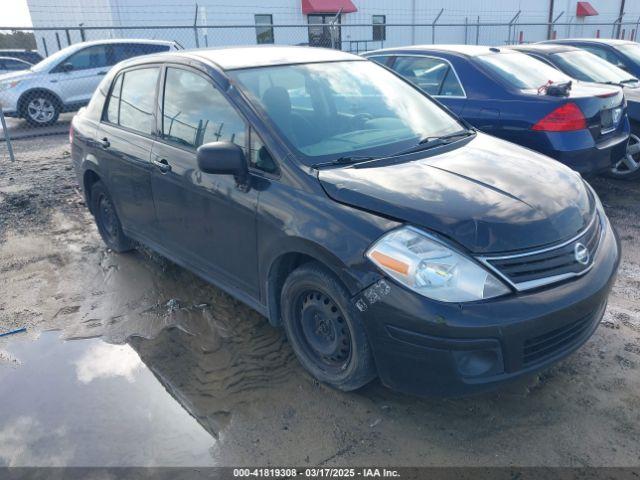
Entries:
{"type": "Polygon", "coordinates": [[[470,302],[510,292],[473,260],[413,227],[385,234],[366,255],[390,277],[433,300],[470,302]]]}

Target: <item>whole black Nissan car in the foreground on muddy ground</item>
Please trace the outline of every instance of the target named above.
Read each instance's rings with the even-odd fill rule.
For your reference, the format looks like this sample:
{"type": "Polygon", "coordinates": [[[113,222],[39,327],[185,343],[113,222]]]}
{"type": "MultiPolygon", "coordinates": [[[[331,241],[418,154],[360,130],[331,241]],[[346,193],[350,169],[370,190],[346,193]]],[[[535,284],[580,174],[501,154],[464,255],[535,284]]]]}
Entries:
{"type": "Polygon", "coordinates": [[[129,60],[71,142],[110,248],[218,285],[343,390],[460,395],[543,368],[596,329],[618,266],[579,174],[334,50],[129,60]]]}

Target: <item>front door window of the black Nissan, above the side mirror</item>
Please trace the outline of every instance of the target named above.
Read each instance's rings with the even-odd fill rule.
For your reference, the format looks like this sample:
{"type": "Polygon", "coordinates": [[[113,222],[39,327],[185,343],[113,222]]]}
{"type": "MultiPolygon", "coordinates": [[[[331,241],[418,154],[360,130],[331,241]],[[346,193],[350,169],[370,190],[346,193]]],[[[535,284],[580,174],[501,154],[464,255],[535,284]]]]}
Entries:
{"type": "Polygon", "coordinates": [[[168,68],[162,111],[162,137],[169,142],[191,148],[216,141],[246,146],[244,120],[201,75],[168,68]]]}

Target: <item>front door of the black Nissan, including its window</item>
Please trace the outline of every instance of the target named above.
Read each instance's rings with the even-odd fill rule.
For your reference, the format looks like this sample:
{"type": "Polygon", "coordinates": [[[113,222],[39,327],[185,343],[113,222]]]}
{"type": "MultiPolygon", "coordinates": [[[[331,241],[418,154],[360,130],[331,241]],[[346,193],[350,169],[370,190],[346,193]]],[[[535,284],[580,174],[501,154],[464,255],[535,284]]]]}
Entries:
{"type": "Polygon", "coordinates": [[[196,149],[230,141],[247,149],[247,126],[204,74],[168,67],[161,138],[152,151],[153,198],[161,245],[192,269],[258,297],[258,193],[232,175],[201,172],[196,149]]]}

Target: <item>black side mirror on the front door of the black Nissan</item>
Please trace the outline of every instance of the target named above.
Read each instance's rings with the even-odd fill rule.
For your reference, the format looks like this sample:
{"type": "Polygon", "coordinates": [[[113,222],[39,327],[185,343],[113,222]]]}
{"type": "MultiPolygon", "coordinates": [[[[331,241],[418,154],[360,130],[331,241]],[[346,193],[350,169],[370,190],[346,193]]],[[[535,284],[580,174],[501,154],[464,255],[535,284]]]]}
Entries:
{"type": "Polygon", "coordinates": [[[232,142],[212,142],[198,147],[198,168],[204,173],[234,175],[238,184],[249,175],[244,151],[232,142]]]}

